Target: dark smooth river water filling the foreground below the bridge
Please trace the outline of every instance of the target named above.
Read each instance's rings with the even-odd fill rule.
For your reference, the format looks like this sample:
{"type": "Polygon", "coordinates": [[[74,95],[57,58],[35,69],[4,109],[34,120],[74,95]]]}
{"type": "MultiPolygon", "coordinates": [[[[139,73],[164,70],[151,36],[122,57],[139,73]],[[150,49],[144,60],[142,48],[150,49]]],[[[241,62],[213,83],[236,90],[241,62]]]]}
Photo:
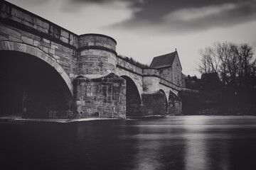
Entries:
{"type": "Polygon", "coordinates": [[[0,123],[6,169],[256,169],[256,117],[0,123]]]}

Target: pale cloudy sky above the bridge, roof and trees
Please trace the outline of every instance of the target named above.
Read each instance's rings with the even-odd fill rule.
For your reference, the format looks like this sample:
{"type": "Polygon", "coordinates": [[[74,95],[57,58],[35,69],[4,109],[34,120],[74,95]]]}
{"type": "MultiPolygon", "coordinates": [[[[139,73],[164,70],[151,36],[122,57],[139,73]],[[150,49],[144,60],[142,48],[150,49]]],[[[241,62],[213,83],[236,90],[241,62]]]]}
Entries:
{"type": "Polygon", "coordinates": [[[183,74],[199,78],[199,50],[213,42],[248,43],[256,50],[256,0],[7,1],[78,35],[109,35],[118,55],[143,64],[177,49],[183,74]]]}

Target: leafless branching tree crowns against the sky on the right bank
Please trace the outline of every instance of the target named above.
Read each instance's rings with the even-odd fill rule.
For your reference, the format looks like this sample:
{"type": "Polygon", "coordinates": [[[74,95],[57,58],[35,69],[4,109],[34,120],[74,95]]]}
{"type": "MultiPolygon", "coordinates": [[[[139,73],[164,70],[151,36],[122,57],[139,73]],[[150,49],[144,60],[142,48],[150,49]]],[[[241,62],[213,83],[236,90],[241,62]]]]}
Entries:
{"type": "MultiPolygon", "coordinates": [[[[196,70],[201,74],[218,72],[223,84],[245,86],[255,73],[254,51],[250,45],[233,42],[215,42],[212,47],[200,50],[201,58],[196,70]]],[[[247,86],[247,85],[246,85],[247,86]]]]}

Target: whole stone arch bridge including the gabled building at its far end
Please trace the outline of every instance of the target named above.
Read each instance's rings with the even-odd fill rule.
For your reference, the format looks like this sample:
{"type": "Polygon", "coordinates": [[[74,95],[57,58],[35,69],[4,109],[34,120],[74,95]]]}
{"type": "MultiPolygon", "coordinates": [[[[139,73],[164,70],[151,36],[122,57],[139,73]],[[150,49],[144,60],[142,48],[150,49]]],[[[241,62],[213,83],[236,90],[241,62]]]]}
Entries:
{"type": "Polygon", "coordinates": [[[142,69],[119,57],[117,42],[107,35],[76,35],[9,2],[0,7],[4,113],[35,118],[181,113],[179,92],[192,90],[184,88],[178,52],[155,57],[142,69]],[[171,62],[159,67],[158,60],[171,62]]]}

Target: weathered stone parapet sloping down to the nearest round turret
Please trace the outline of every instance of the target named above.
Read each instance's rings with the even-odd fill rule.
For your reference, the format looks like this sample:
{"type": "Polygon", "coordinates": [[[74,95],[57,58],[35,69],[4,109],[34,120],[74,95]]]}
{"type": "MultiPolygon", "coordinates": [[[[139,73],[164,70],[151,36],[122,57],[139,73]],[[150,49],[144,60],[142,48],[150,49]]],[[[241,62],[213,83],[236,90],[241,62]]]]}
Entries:
{"type": "Polygon", "coordinates": [[[41,38],[55,40],[66,45],[78,47],[78,35],[75,33],[57,26],[55,23],[51,23],[40,16],[36,16],[23,8],[10,4],[7,1],[1,3],[0,7],[0,19],[2,23],[7,23],[9,26],[14,26],[21,30],[27,30],[29,33],[33,32],[41,38]]]}

